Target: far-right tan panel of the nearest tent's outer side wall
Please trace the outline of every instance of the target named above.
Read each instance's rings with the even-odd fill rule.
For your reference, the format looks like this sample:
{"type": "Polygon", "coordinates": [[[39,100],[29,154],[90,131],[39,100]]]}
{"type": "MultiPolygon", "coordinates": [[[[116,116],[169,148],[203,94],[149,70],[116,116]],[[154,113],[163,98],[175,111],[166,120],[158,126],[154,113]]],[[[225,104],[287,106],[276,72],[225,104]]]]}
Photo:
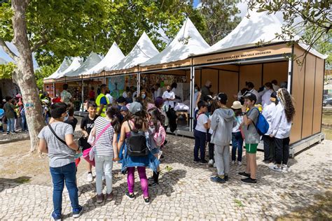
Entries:
{"type": "Polygon", "coordinates": [[[314,86],[314,119],[312,134],[321,131],[321,106],[323,105],[324,59],[316,57],[316,79],[314,86]]]}

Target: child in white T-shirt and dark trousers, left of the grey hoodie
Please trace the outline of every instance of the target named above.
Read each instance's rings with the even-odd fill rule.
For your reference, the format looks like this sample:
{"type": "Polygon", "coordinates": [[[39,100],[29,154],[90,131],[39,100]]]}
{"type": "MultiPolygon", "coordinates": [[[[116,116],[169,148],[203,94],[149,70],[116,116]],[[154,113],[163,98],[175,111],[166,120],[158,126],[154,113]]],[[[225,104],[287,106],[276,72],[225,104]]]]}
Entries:
{"type": "Polygon", "coordinates": [[[207,129],[210,128],[210,121],[205,113],[207,113],[207,102],[199,101],[198,113],[195,115],[195,121],[197,123],[194,128],[194,163],[207,163],[205,160],[205,143],[207,141],[207,129]],[[198,158],[198,150],[200,150],[200,158],[198,158]]]}

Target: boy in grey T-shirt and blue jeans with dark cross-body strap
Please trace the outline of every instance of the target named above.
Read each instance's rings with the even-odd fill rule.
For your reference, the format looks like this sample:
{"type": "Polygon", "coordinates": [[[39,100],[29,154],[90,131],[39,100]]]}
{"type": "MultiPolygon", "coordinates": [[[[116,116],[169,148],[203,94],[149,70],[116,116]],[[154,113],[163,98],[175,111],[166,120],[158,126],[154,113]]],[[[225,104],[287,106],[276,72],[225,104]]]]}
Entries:
{"type": "Polygon", "coordinates": [[[43,127],[38,137],[40,138],[39,150],[48,153],[48,157],[50,158],[54,206],[51,216],[53,220],[62,219],[62,192],[64,190],[64,183],[66,183],[73,208],[73,217],[78,218],[83,212],[83,207],[78,204],[74,156],[75,152],[79,153],[81,151],[74,142],[73,128],[63,122],[64,117],[67,117],[67,105],[62,102],[53,104],[50,115],[52,117],[50,125],[43,127]]]}

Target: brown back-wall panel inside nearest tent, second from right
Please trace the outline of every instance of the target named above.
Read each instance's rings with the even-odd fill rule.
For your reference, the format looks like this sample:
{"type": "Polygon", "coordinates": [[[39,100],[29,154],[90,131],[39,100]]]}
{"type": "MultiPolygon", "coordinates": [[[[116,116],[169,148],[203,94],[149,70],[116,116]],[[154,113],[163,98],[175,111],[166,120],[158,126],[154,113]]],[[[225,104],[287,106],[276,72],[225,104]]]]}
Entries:
{"type": "MultiPolygon", "coordinates": [[[[262,65],[251,64],[240,66],[240,90],[245,87],[246,81],[254,83],[255,89],[258,90],[262,84],[262,65]]],[[[234,85],[236,87],[236,85],[234,85]]]]}

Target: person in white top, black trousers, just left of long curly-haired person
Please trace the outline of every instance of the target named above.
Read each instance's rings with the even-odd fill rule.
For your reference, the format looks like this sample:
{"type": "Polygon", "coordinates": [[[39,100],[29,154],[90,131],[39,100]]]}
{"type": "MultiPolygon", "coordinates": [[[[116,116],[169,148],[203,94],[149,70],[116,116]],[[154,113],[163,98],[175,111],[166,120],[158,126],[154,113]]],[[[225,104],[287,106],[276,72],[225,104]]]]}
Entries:
{"type": "Polygon", "coordinates": [[[270,95],[271,103],[265,106],[263,109],[262,115],[265,117],[268,122],[268,132],[263,135],[263,143],[264,143],[264,159],[263,162],[268,164],[270,162],[275,161],[275,138],[270,137],[272,134],[272,124],[273,120],[275,120],[275,106],[278,104],[277,93],[273,92],[270,95]]]}

